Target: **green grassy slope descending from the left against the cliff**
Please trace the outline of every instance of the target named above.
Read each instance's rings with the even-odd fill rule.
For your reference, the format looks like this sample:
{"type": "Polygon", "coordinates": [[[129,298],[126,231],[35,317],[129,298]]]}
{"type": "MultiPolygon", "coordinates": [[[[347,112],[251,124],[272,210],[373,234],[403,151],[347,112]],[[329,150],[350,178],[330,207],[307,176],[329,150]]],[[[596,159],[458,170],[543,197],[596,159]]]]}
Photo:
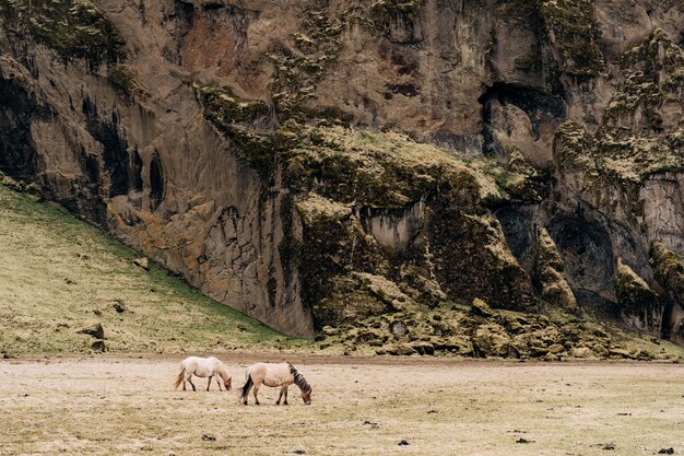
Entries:
{"type": "Polygon", "coordinates": [[[0,185],[0,356],[87,352],[102,323],[115,352],[275,350],[286,338],[225,307],[64,210],[0,185]],[[123,312],[115,305],[121,303],[123,312]]]}

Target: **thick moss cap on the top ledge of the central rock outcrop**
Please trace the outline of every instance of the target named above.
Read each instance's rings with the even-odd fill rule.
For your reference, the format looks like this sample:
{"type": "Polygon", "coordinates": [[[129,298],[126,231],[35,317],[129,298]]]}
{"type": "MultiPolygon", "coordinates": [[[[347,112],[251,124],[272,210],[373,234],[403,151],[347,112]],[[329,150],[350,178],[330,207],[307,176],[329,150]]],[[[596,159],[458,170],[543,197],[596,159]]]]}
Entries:
{"type": "Polygon", "coordinates": [[[286,153],[290,186],[344,203],[404,208],[439,195],[463,210],[482,200],[506,198],[493,173],[406,136],[354,131],[342,127],[297,130],[299,141],[286,153]]]}

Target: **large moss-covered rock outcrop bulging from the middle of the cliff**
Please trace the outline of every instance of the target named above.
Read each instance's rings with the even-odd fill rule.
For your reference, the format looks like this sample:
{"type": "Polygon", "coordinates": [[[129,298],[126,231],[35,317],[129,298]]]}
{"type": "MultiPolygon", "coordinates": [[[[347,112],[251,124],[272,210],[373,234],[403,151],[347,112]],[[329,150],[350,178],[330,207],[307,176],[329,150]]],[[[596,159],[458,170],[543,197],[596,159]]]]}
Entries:
{"type": "Polygon", "coordinates": [[[280,151],[283,178],[303,221],[300,277],[317,325],[344,321],[342,315],[351,313],[339,309],[354,300],[365,303],[359,308],[372,308],[368,296],[379,303],[374,308],[398,307],[358,273],[374,274],[427,307],[473,297],[507,308],[536,305],[529,277],[485,209],[509,198],[496,173],[510,172],[399,133],[300,124],[286,128],[293,133],[283,133],[282,142],[291,144],[280,151]],[[373,215],[362,212],[400,223],[415,204],[420,221],[412,222],[417,231],[406,237],[408,245],[384,247],[364,225],[364,218],[373,215]],[[339,280],[344,274],[353,280],[339,280]],[[361,290],[357,297],[353,283],[361,290]]]}

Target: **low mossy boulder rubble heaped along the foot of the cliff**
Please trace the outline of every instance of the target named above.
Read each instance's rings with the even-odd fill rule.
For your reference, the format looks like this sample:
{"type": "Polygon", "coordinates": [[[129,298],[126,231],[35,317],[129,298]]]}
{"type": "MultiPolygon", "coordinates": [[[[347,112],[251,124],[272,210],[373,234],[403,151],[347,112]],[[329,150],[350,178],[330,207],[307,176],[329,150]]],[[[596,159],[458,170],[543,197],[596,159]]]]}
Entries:
{"type": "Polygon", "coordinates": [[[326,327],[317,338],[327,352],[380,355],[671,360],[681,349],[625,335],[591,319],[509,311],[476,312],[469,305],[434,309],[404,307],[339,328],[326,327]]]}

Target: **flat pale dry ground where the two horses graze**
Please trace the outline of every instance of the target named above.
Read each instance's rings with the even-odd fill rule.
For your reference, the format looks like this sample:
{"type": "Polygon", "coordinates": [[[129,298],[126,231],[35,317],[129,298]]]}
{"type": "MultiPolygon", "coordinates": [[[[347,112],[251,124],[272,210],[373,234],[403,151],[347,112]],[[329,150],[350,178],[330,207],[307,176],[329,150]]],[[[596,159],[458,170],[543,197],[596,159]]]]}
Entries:
{"type": "Polygon", "coordinates": [[[231,393],[174,390],[180,358],[3,361],[0,455],[684,454],[684,365],[298,358],[311,406],[244,407],[263,358],[222,358],[231,393]]]}

